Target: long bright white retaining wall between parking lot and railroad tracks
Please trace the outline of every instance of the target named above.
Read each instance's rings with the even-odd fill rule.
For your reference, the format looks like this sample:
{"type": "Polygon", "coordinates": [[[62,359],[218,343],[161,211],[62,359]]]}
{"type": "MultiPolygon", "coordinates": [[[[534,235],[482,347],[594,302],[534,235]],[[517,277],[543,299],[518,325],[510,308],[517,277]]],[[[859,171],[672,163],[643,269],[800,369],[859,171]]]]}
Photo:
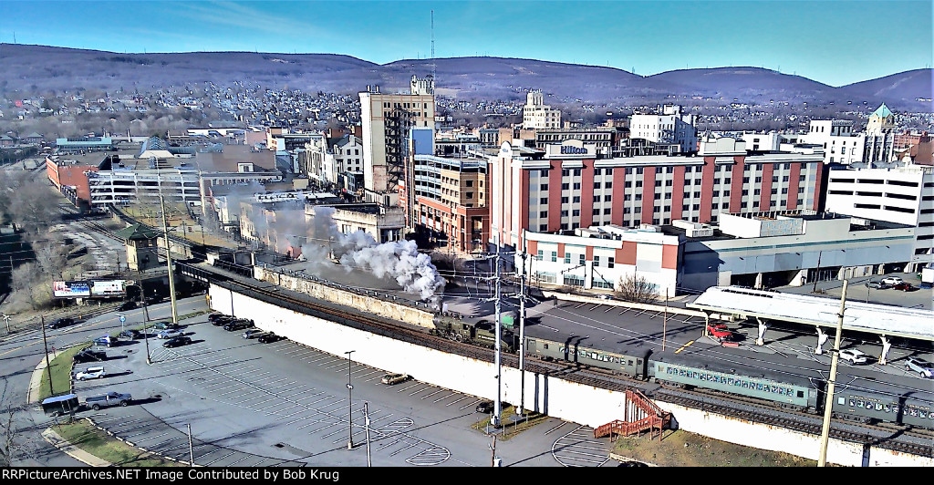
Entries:
{"type": "MultiPolygon", "coordinates": [[[[403,372],[417,381],[431,383],[468,395],[493,399],[496,395],[496,368],[471,357],[443,353],[411,343],[377,336],[341,326],[317,317],[293,312],[211,284],[211,308],[238,317],[251,318],[263,330],[322,352],[344,356],[389,372],[403,372]]],[[[516,368],[502,368],[502,399],[517,404],[521,399],[520,374],[516,368]]],[[[526,374],[525,406],[549,416],[596,428],[624,416],[625,393],[587,384],[561,381],[535,373],[526,374]]],[[[687,409],[658,401],[672,412],[677,427],[722,441],[778,450],[816,459],[819,436],[802,434],[745,420],[721,416],[699,409],[687,409]]],[[[918,457],[830,439],[828,463],[851,466],[932,466],[934,458],[918,457]]]]}

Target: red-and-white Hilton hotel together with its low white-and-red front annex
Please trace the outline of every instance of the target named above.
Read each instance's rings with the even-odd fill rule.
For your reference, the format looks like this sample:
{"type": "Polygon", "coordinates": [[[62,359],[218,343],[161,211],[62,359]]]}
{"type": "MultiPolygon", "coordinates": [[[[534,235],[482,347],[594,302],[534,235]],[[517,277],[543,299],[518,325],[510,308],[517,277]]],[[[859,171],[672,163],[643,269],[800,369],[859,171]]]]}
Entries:
{"type": "Polygon", "coordinates": [[[609,289],[631,273],[662,295],[682,277],[685,238],[713,234],[721,214],[819,211],[825,173],[820,152],[749,154],[726,137],[702,140],[697,156],[605,157],[580,140],[544,152],[504,143],[488,170],[488,243],[531,255],[530,277],[609,289]]]}

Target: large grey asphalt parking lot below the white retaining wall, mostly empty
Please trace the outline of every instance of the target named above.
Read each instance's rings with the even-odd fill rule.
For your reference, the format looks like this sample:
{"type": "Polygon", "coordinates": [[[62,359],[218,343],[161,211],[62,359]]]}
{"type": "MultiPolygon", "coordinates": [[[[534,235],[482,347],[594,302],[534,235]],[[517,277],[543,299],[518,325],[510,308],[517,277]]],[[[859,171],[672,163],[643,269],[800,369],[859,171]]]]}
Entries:
{"type": "MultiPolygon", "coordinates": [[[[475,412],[482,401],[476,396],[417,380],[387,385],[381,381],[385,370],[351,360],[350,408],[346,357],[288,339],[243,339],[242,330],[227,332],[207,323],[182,330],[191,344],[163,348],[163,340],[149,340],[151,365],[144,342],[136,341],[120,348],[125,358],[106,363],[106,379],[76,383],[80,394],[132,392],[140,404],[89,413],[96,423],[136,446],[183,461],[189,459],[188,436],[179,430],[191,424],[196,464],[361,466],[366,403],[375,465],[488,465],[489,436],[470,429],[487,417],[475,412]],[[354,450],[347,450],[351,433],[354,450]],[[453,452],[452,444],[460,452],[453,452]]],[[[610,443],[594,440],[592,429],[559,420],[545,425],[514,438],[519,455],[513,460],[551,466],[606,463],[610,443]],[[565,436],[572,433],[589,433],[592,442],[565,436]],[[530,439],[522,443],[526,434],[530,439]],[[562,458],[575,450],[597,458],[576,464],[562,458]],[[543,463],[549,455],[551,460],[543,463]]]]}

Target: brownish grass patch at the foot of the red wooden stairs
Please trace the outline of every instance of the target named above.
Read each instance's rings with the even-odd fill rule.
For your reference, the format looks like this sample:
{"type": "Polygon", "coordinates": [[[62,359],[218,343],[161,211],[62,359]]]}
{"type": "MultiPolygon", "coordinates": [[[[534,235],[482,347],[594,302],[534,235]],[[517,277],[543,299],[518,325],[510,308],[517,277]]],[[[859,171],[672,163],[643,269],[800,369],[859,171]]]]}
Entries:
{"type": "Polygon", "coordinates": [[[662,439],[623,436],[616,439],[616,454],[659,466],[816,466],[817,462],[780,451],[758,450],[695,435],[666,430],[662,439]]]}

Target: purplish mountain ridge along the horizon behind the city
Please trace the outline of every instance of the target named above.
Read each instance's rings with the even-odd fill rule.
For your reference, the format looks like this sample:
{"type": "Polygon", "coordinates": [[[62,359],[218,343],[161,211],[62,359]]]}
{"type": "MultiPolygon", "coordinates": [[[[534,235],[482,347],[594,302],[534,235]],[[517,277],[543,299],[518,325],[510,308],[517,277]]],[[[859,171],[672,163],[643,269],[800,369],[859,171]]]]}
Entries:
{"type": "Polygon", "coordinates": [[[0,44],[0,90],[130,90],[233,81],[278,89],[355,93],[378,85],[407,90],[411,76],[436,73],[436,88],[464,100],[522,101],[541,89],[546,103],[606,106],[713,99],[749,104],[886,103],[930,111],[932,69],[913,69],[833,87],[755,66],[676,69],[641,76],[612,66],[497,56],[401,59],[383,64],[336,53],[194,51],[120,53],[0,44]],[[669,100],[675,101],[669,101],[669,100]]]}

